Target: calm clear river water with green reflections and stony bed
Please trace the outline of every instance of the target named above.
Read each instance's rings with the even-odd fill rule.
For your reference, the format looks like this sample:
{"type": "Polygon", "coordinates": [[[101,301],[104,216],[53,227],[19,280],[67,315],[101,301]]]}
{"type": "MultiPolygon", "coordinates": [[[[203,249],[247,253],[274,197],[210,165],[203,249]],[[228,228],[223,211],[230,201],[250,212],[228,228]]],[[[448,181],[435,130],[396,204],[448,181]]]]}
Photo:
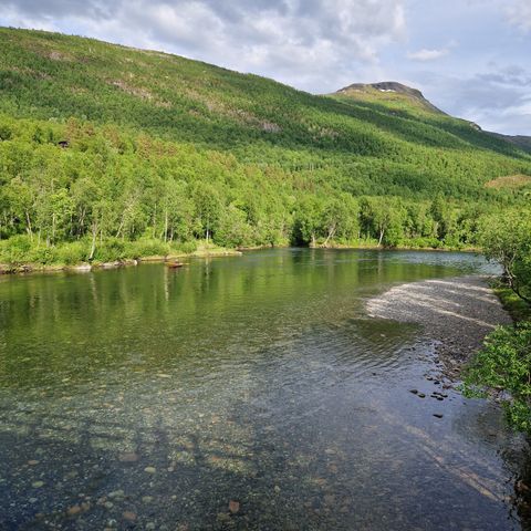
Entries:
{"type": "Polygon", "coordinates": [[[430,342],[364,311],[475,271],[275,250],[1,279],[0,529],[523,529],[522,441],[430,398],[430,342]]]}

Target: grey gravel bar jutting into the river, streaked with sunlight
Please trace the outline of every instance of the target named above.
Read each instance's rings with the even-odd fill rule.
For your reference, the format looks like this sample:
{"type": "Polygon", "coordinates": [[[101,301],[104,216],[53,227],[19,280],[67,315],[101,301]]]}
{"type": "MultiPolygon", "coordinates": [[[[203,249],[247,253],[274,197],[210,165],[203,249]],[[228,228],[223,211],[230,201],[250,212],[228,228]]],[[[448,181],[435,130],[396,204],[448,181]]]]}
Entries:
{"type": "Polygon", "coordinates": [[[486,277],[400,284],[371,299],[366,308],[373,317],[420,324],[435,342],[444,374],[450,379],[459,377],[488,333],[511,323],[486,277]]]}

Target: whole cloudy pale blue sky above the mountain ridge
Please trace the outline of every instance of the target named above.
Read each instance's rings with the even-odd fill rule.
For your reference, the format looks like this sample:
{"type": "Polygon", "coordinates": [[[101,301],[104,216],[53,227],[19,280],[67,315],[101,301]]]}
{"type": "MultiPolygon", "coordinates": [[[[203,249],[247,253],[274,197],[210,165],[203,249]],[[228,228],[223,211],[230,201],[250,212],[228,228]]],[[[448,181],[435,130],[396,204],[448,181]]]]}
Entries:
{"type": "Polygon", "coordinates": [[[163,50],[315,94],[398,81],[531,136],[531,0],[0,0],[0,25],[163,50]]]}

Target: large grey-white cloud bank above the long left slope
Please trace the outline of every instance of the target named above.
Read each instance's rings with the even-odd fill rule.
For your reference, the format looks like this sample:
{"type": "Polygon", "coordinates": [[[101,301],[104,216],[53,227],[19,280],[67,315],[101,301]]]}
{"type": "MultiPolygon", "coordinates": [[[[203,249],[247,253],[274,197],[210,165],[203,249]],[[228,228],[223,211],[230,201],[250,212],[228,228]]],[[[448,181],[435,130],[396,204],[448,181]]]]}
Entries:
{"type": "Polygon", "coordinates": [[[381,50],[405,38],[406,1],[7,0],[3,19],[46,29],[54,21],[58,31],[73,28],[330,92],[377,70],[381,50]]]}

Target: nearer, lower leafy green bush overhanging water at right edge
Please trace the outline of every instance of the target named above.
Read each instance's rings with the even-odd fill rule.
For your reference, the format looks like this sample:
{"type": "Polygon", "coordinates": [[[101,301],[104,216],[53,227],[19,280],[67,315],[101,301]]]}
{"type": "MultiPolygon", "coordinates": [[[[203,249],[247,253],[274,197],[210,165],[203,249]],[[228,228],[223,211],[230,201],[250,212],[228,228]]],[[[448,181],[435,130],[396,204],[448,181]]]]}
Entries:
{"type": "Polygon", "coordinates": [[[500,326],[491,333],[465,374],[468,396],[494,392],[509,423],[531,435],[531,323],[500,326]]]}

